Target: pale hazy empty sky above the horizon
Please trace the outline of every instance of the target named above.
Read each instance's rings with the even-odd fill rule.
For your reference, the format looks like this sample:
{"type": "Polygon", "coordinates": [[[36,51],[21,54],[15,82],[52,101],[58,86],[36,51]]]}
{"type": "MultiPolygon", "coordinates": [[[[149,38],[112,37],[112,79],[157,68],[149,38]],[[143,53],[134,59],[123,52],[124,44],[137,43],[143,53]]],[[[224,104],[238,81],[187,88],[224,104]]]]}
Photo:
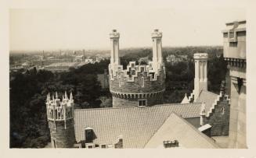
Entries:
{"type": "Polygon", "coordinates": [[[163,32],[163,46],[222,45],[225,23],[245,19],[245,9],[92,7],[10,9],[10,50],[110,48],[109,33],[121,33],[120,47],[151,47],[150,34],[163,32]]]}

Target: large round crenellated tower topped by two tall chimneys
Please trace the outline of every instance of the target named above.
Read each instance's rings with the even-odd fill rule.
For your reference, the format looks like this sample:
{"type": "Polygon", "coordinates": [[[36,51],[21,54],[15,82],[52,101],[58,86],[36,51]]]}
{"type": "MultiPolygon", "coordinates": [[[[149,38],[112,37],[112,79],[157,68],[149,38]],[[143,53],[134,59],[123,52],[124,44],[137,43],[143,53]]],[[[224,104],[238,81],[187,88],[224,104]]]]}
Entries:
{"type": "Polygon", "coordinates": [[[162,60],[162,33],[154,30],[153,61],[148,65],[135,65],[130,61],[126,69],[119,60],[119,33],[110,33],[111,60],[109,65],[110,93],[113,107],[146,107],[163,104],[165,68],[162,60]]]}

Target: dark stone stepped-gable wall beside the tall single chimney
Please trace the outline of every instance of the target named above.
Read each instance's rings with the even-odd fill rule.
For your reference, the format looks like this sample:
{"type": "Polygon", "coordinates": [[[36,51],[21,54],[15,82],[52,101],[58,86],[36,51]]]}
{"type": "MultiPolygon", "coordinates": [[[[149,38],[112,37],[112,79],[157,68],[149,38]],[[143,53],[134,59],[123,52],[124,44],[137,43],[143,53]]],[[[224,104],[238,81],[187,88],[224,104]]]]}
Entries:
{"type": "Polygon", "coordinates": [[[204,125],[210,124],[212,126],[211,136],[229,135],[229,114],[229,101],[226,97],[222,97],[210,116],[203,118],[204,125]],[[222,108],[225,109],[224,114],[222,114],[222,108]]]}

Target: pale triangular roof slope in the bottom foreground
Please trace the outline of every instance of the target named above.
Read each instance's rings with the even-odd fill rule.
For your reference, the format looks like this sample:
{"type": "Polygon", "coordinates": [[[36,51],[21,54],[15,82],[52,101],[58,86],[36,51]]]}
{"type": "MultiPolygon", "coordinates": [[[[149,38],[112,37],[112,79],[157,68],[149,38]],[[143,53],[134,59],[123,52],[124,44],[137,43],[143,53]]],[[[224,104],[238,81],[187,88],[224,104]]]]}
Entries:
{"type": "Polygon", "coordinates": [[[213,139],[204,135],[175,113],[171,113],[145,147],[163,148],[163,141],[173,140],[178,140],[178,144],[182,148],[218,148],[213,139]]]}

